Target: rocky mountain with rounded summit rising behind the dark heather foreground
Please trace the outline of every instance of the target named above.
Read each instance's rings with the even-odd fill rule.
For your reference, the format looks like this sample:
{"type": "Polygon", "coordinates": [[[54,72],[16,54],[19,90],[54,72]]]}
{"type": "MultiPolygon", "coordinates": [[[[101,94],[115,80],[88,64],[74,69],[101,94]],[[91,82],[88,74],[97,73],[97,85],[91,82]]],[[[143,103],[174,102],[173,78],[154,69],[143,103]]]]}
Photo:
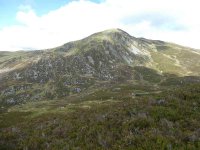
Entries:
{"type": "Polygon", "coordinates": [[[66,97],[111,82],[166,84],[183,76],[200,76],[200,51],[111,29],[53,49],[0,52],[0,103],[66,97]]]}

